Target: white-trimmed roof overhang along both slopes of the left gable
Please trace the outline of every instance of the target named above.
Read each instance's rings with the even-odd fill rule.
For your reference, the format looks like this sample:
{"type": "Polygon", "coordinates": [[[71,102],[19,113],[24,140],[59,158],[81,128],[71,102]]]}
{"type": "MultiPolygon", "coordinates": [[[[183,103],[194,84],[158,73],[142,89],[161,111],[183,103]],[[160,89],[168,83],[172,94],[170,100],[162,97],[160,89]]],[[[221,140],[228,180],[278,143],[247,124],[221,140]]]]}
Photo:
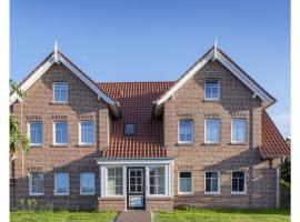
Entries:
{"type": "MultiPolygon", "coordinates": [[[[36,69],[21,84],[19,88],[22,91],[27,91],[39,78],[41,78],[47,70],[49,70],[54,63],[62,63],[68,69],[71,70],[71,72],[78,77],[82,82],[84,82],[97,95],[98,100],[103,100],[106,103],[108,103],[112,114],[114,117],[120,117],[120,104],[118,101],[111,99],[108,97],[104,92],[102,92],[98,85],[87,75],[84,74],[79,68],[77,68],[67,57],[64,57],[60,52],[53,52],[51,53],[48,59],[46,59],[39,67],[36,69]]],[[[12,92],[10,94],[10,104],[16,102],[17,100],[20,100],[17,92],[12,92]]]]}

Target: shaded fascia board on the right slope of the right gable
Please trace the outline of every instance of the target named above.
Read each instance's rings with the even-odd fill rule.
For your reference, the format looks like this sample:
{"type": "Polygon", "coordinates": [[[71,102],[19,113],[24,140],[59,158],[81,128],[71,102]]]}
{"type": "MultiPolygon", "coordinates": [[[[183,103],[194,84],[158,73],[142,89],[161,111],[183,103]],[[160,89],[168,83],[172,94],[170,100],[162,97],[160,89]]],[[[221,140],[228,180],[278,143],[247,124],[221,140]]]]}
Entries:
{"type": "Polygon", "coordinates": [[[229,69],[241,82],[243,82],[252,92],[254,92],[261,100],[269,103],[274,102],[272,98],[266,94],[258,85],[253,83],[244,73],[242,73],[234,64],[232,64],[228,59],[226,59],[219,51],[217,59],[229,69]]]}

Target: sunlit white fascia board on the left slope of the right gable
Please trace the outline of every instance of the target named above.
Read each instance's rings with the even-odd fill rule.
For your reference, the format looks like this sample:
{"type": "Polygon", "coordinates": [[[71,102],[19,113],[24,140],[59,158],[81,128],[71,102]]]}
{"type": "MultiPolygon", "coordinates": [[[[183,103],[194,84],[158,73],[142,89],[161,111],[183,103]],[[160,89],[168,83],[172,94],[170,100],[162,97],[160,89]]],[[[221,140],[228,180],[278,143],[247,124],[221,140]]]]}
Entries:
{"type": "Polygon", "coordinates": [[[156,104],[157,107],[166,102],[170,97],[172,97],[196,72],[198,72],[204,64],[213,57],[213,50],[202,59],[198,64],[196,64],[178,83],[176,83],[162,98],[160,98],[156,104]]]}

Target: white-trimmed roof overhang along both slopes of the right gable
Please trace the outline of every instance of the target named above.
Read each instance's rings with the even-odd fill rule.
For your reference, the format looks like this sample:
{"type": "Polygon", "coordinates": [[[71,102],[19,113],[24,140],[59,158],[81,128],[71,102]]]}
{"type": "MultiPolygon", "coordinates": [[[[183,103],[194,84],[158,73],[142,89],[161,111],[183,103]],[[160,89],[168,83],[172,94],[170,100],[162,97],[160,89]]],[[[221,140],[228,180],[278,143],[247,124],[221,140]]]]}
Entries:
{"type": "Polygon", "coordinates": [[[172,98],[176,92],[190,80],[201,68],[203,68],[210,60],[218,60],[221,62],[229,71],[233,73],[243,84],[246,84],[254,95],[258,95],[262,101],[262,107],[267,108],[276,102],[276,99],[270,95],[266,90],[263,90],[254,80],[252,80],[244,71],[242,71],[236,63],[233,63],[228,57],[221,52],[217,47],[210,49],[202,59],[200,59],[196,64],[192,65],[178,81],[173,84],[163,95],[154,103],[154,115],[161,113],[161,108],[163,103],[172,98]]]}

